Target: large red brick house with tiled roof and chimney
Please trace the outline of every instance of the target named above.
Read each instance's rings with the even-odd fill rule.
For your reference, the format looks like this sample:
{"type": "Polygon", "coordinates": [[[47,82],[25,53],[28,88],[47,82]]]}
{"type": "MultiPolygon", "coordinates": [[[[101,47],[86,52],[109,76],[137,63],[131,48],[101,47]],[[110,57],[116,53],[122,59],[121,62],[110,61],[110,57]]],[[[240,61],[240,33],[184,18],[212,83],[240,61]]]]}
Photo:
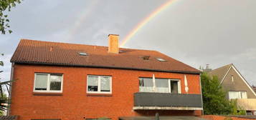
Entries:
{"type": "Polygon", "coordinates": [[[22,39],[10,115],[21,120],[200,116],[200,71],[158,51],[22,39]]]}

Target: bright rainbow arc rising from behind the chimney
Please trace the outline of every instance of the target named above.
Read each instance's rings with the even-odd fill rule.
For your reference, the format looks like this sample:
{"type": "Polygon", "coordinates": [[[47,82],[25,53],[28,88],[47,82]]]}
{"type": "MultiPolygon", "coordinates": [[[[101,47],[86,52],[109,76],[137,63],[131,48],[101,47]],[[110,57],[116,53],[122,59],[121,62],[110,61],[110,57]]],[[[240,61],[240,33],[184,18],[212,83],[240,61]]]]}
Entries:
{"type": "Polygon", "coordinates": [[[131,39],[131,37],[133,37],[143,26],[145,26],[148,21],[150,21],[151,19],[153,19],[157,14],[159,14],[161,11],[163,11],[164,9],[166,9],[168,6],[170,6],[175,0],[169,0],[166,3],[162,4],[161,6],[159,6],[156,10],[154,10],[153,12],[151,12],[151,14],[149,14],[146,18],[144,18],[141,22],[139,22],[136,27],[133,28],[133,30],[131,32],[129,32],[128,35],[125,36],[125,38],[123,39],[123,41],[121,41],[120,46],[123,47],[127,41],[129,39],[131,39]]]}

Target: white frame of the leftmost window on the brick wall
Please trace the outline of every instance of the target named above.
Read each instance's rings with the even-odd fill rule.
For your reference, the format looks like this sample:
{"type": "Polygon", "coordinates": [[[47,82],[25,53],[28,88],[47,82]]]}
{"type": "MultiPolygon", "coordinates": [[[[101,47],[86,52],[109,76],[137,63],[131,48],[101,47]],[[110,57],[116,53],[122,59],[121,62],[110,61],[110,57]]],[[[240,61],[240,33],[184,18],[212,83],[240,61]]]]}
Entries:
{"type": "MultiPolygon", "coordinates": [[[[47,75],[47,89],[46,90],[36,90],[36,79],[37,79],[37,74],[46,74],[46,73],[35,73],[34,74],[34,88],[33,91],[34,92],[42,92],[42,93],[62,93],[62,89],[63,89],[63,74],[62,74],[62,79],[61,79],[61,87],[60,87],[60,91],[59,90],[50,90],[50,76],[51,74],[46,74],[47,75]]],[[[54,74],[52,74],[54,75],[54,74]]],[[[57,74],[57,75],[61,75],[61,74],[57,74]]]]}

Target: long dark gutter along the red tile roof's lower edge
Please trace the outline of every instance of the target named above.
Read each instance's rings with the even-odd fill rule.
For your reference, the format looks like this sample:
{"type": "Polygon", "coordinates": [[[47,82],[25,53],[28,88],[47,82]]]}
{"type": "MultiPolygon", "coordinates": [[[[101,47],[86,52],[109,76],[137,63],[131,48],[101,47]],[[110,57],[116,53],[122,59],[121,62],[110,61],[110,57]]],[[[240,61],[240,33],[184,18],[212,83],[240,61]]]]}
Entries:
{"type": "Polygon", "coordinates": [[[108,68],[108,69],[131,69],[131,70],[142,70],[142,71],[161,71],[161,72],[172,72],[179,74],[201,74],[201,71],[176,71],[176,70],[161,70],[161,69],[140,69],[133,67],[121,67],[121,66],[97,66],[97,65],[78,65],[78,64],[62,64],[62,63],[45,63],[45,62],[32,62],[32,61],[11,61],[16,64],[34,64],[34,65],[49,65],[49,66],[80,66],[80,67],[92,67],[92,68],[108,68]]]}

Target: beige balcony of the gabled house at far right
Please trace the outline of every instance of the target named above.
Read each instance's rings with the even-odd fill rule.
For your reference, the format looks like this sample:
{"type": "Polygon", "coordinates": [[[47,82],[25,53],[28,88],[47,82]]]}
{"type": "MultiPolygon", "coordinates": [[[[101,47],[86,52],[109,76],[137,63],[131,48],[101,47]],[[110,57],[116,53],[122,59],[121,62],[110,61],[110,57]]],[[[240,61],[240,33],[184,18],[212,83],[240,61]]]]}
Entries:
{"type": "Polygon", "coordinates": [[[256,99],[237,99],[237,106],[242,110],[255,111],[256,99]]]}

